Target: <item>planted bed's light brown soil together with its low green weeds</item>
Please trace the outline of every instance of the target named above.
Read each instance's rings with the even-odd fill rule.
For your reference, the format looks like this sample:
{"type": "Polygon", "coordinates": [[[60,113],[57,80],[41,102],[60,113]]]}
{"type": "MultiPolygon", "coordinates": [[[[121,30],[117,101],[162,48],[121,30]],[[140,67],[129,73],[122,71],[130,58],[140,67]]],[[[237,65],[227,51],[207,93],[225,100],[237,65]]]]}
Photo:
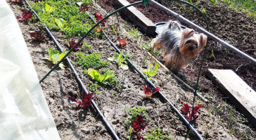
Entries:
{"type": "MultiPolygon", "coordinates": [[[[21,10],[26,11],[27,6],[24,2],[9,4],[17,17],[21,15],[21,10]]],[[[72,46],[72,40],[79,40],[94,24],[89,16],[86,16],[87,14],[85,12],[80,12],[79,7],[75,5],[75,1],[61,0],[57,2],[47,0],[40,2],[40,4],[35,4],[32,1],[31,4],[40,18],[43,21],[45,19],[44,23],[46,23],[46,26],[51,30],[62,48],[66,49],[66,52],[69,50],[69,46],[72,46]],[[53,10],[59,12],[55,11],[56,14],[54,14],[55,12],[52,11],[52,14],[50,14],[50,8],[43,8],[45,3],[52,7],[53,10]],[[46,14],[47,12],[50,13],[46,14]],[[61,22],[60,18],[63,18],[66,23],[64,26],[58,26],[55,18],[59,19],[59,22],[61,22]]],[[[96,15],[94,13],[98,15],[102,14],[103,16],[106,15],[94,2],[91,2],[88,6],[88,12],[91,16],[96,15]]],[[[43,60],[43,58],[48,58],[48,47],[52,47],[53,50],[56,50],[56,48],[45,33],[43,34],[46,37],[42,41],[33,41],[31,39],[29,35],[30,30],[43,30],[36,19],[20,22],[19,25],[24,33],[27,46],[31,51],[31,57],[37,70],[38,78],[41,79],[49,71],[49,68],[53,66],[51,61],[43,60]]],[[[102,27],[103,25],[101,24],[98,30],[102,27]]],[[[105,30],[116,46],[120,50],[123,50],[123,54],[129,54],[130,61],[140,71],[146,70],[151,62],[152,66],[156,65],[150,58],[145,61],[144,58],[147,56],[147,52],[143,47],[138,47],[138,44],[147,47],[147,42],[140,41],[138,36],[136,36],[136,34],[140,36],[139,32],[136,30],[131,31],[123,19],[116,19],[116,16],[112,16],[105,21],[105,28],[103,30],[105,30]],[[127,39],[127,45],[117,43],[115,40],[117,40],[118,36],[127,39]]],[[[121,42],[121,40],[118,41],[121,42]]],[[[144,130],[140,131],[140,135],[145,139],[150,139],[153,135],[158,135],[155,132],[163,134],[162,137],[166,137],[165,139],[171,139],[171,136],[173,137],[172,139],[184,139],[186,137],[188,139],[195,139],[195,136],[187,130],[177,115],[171,110],[168,103],[160,100],[157,94],[151,98],[145,96],[144,89],[141,85],[146,85],[146,82],[137,72],[129,65],[128,70],[123,70],[122,68],[124,66],[121,68],[117,65],[116,61],[108,61],[110,60],[108,58],[115,56],[116,50],[102,36],[101,32],[93,30],[90,36],[84,39],[83,45],[81,44],[80,48],[77,48],[72,55],[69,55],[69,58],[73,61],[75,69],[84,84],[87,84],[86,88],[89,93],[94,93],[94,101],[120,139],[129,138],[130,126],[132,124],[131,119],[134,120],[136,115],[141,114],[141,112],[144,113],[146,116],[145,120],[149,124],[144,130]],[[108,79],[97,79],[91,76],[93,72],[89,68],[97,69],[101,76],[106,72],[114,72],[114,75],[108,79]],[[88,73],[87,70],[89,71],[88,73]],[[131,119],[129,119],[130,117],[131,119]],[[162,129],[162,131],[159,129],[162,129]],[[164,136],[165,134],[166,136],[164,136]]],[[[111,139],[111,136],[105,130],[106,128],[104,128],[97,113],[91,106],[88,109],[83,108],[82,115],[79,117],[80,107],[68,103],[67,100],[70,96],[80,100],[82,89],[76,83],[68,65],[65,62],[64,65],[66,66],[64,70],[57,68],[41,83],[61,138],[111,139]]],[[[184,91],[164,69],[158,68],[156,75],[151,78],[158,81],[155,85],[160,87],[160,91],[171,100],[176,108],[182,108],[183,103],[188,103],[190,106],[196,106],[197,104],[206,106],[200,99],[193,99],[194,95],[184,91]]],[[[208,108],[203,107],[198,113],[200,114],[199,117],[197,120],[191,121],[191,124],[202,136],[209,139],[235,138],[225,128],[226,122],[221,122],[220,118],[216,118],[215,113],[208,112],[208,108]],[[211,126],[207,126],[206,124],[210,124],[211,126]]],[[[135,133],[132,133],[131,137],[135,139],[137,136],[135,133]]]]}

